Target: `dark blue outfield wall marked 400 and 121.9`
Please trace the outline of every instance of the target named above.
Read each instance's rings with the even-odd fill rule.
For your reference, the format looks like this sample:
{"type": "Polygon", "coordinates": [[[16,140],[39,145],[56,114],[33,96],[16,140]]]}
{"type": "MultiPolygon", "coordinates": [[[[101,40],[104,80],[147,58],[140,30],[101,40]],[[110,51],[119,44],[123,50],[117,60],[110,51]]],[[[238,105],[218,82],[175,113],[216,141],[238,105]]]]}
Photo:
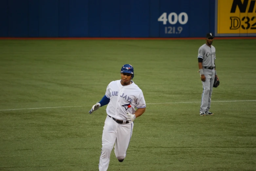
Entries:
{"type": "Polygon", "coordinates": [[[215,0],[0,0],[0,37],[205,37],[214,24],[215,0]]]}

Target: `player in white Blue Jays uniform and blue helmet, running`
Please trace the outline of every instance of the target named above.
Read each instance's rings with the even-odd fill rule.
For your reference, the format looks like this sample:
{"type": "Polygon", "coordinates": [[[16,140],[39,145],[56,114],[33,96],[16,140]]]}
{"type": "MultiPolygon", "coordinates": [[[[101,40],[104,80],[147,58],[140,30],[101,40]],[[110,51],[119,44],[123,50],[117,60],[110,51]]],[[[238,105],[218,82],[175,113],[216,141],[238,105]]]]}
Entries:
{"type": "Polygon", "coordinates": [[[89,113],[107,105],[107,118],[103,127],[102,150],[99,170],[106,171],[110,161],[110,153],[114,147],[119,162],[126,157],[133,120],[146,110],[146,102],[142,90],[131,80],[134,77],[133,67],[125,64],[121,68],[121,80],[108,84],[106,94],[101,101],[92,106],[89,113]],[[137,110],[135,110],[137,108],[137,110]]]}

